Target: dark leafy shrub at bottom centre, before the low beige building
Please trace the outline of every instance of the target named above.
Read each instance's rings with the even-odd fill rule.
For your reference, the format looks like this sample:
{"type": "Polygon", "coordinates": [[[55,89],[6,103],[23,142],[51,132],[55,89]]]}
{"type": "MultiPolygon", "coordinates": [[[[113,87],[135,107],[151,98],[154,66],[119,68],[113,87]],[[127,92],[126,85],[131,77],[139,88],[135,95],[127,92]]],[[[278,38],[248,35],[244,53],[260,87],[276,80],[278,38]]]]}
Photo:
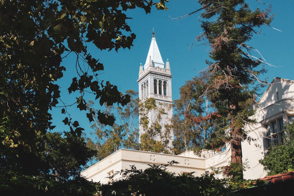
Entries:
{"type": "Polygon", "coordinates": [[[129,170],[118,172],[115,176],[121,176],[121,180],[101,185],[102,194],[108,196],[114,191],[116,195],[230,195],[226,181],[216,179],[213,175],[176,175],[168,172],[168,165],[149,166],[145,170],[138,170],[133,166],[129,170]]]}

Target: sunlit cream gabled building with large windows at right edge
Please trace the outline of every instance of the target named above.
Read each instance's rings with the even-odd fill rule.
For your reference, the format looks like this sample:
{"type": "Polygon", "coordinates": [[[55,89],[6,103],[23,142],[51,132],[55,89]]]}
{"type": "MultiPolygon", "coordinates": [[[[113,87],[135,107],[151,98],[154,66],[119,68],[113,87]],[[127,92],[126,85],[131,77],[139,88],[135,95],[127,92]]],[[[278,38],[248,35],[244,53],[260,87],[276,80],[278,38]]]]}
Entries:
{"type": "Polygon", "coordinates": [[[253,117],[256,124],[249,125],[250,143],[242,143],[243,162],[248,161],[249,169],[244,172],[246,179],[258,179],[267,175],[259,160],[270,145],[283,142],[283,125],[294,119],[294,81],[274,78],[263,96],[255,105],[253,117]]]}

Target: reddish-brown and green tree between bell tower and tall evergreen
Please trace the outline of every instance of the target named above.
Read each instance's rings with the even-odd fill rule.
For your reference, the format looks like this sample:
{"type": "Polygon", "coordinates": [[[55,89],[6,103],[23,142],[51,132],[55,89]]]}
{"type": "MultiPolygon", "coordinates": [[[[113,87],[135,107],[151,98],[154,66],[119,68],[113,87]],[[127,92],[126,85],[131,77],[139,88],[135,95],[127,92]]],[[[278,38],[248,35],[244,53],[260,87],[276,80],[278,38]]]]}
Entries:
{"type": "MultiPolygon", "coordinates": [[[[209,74],[205,71],[180,88],[180,99],[174,101],[176,113],[173,115],[175,140],[173,151],[176,154],[193,150],[199,153],[207,148],[208,140],[215,130],[218,117],[213,104],[204,96],[209,74]]],[[[216,150],[218,146],[209,146],[216,150]]]]}

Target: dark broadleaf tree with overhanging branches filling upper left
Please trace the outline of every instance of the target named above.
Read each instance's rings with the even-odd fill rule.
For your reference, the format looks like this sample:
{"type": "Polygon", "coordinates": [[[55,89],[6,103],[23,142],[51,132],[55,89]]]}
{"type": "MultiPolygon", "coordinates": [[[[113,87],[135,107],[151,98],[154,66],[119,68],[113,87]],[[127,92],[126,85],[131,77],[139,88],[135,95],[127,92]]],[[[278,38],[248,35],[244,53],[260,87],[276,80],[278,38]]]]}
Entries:
{"type": "MultiPolygon", "coordinates": [[[[164,4],[165,1],[145,0],[1,1],[0,119],[5,126],[4,143],[14,147],[29,143],[31,137],[25,138],[24,132],[32,136],[54,128],[48,110],[59,102],[59,86],[54,81],[63,76],[65,68],[61,62],[68,53],[76,54],[73,69],[79,76],[72,79],[68,91],[80,92],[76,98],[80,110],[86,110],[83,96],[87,91],[95,99],[100,98],[101,105],[126,105],[129,96],[123,96],[109,82],[98,82],[97,71],[103,70],[103,64],[92,58],[86,45],[93,43],[101,50],[130,48],[136,36],[128,33],[131,29],[126,24],[125,11],[139,7],[149,13],[152,5],[167,9],[164,4]],[[19,135],[23,136],[21,141],[16,140],[19,135]]],[[[87,114],[90,121],[92,115],[87,114]]],[[[114,118],[103,113],[97,115],[104,124],[114,122],[114,118]]],[[[64,123],[72,133],[81,135],[83,129],[77,122],[66,118],[64,123]]]]}

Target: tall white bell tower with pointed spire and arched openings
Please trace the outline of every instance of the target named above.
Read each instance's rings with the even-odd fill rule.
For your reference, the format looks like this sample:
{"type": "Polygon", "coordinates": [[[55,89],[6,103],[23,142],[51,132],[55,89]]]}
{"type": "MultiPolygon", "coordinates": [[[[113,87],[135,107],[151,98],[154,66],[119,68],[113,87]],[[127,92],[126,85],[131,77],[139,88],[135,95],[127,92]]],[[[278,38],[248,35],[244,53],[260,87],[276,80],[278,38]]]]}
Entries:
{"type": "MultiPolygon", "coordinates": [[[[144,66],[140,65],[139,71],[139,98],[141,101],[146,100],[147,98],[154,98],[156,100],[156,106],[161,106],[165,109],[165,114],[161,119],[162,132],[164,131],[164,125],[171,124],[171,119],[173,117],[173,108],[171,104],[173,102],[171,96],[171,68],[169,66],[168,60],[164,64],[161,54],[159,52],[155,32],[152,32],[152,39],[146,62],[144,66]]],[[[153,123],[155,119],[156,111],[151,111],[149,114],[149,125],[153,123]]],[[[139,117],[140,118],[140,117],[139,117]]],[[[150,126],[149,126],[150,127],[150,126]]],[[[143,130],[140,129],[140,135],[143,133],[143,130]]],[[[160,141],[160,135],[153,138],[160,141]]],[[[170,142],[169,147],[172,147],[173,141],[173,131],[170,133],[170,142]]]]}

